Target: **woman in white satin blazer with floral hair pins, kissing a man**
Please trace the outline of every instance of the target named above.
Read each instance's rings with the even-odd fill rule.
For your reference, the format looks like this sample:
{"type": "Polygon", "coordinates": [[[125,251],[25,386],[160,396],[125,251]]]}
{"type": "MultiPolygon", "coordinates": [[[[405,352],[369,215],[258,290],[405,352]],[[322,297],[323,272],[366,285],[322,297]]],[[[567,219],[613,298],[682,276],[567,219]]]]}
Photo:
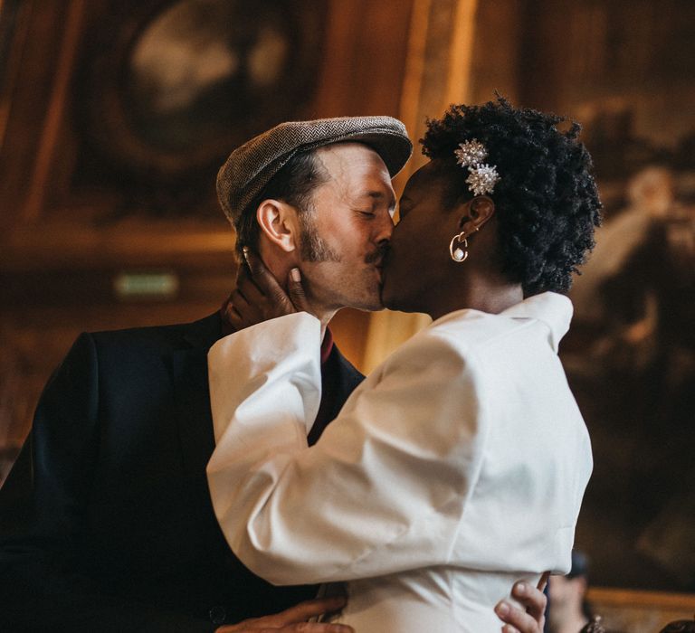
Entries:
{"type": "Polygon", "coordinates": [[[557,345],[600,203],[579,126],[562,121],[499,98],[428,122],[430,160],[400,200],[382,299],[433,323],[313,447],[314,316],[211,351],[208,480],[227,540],[271,582],[347,582],[331,621],[357,633],[500,630],[493,609],[514,581],[570,569],[592,458],[557,345]],[[225,394],[240,367],[241,405],[225,394]]]}

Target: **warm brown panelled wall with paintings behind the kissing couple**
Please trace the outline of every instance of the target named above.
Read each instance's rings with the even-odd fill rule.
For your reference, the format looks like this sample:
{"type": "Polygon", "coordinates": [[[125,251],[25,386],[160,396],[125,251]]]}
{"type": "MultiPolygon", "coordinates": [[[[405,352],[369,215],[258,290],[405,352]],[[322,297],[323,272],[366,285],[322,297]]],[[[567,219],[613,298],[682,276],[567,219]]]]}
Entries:
{"type": "MultiPolygon", "coordinates": [[[[634,268],[597,249],[561,352],[595,450],[577,544],[598,584],[671,592],[595,590],[599,610],[633,631],[692,614],[692,33],[691,0],[0,0],[0,481],[79,332],[193,320],[233,287],[214,174],[234,146],[365,114],[416,142],[426,116],[500,90],[586,124],[599,245],[653,244],[633,230],[652,226],[647,185],[668,199],[668,279],[648,250],[634,268]]],[[[426,322],[345,310],[333,330],[368,370],[426,322]]]]}

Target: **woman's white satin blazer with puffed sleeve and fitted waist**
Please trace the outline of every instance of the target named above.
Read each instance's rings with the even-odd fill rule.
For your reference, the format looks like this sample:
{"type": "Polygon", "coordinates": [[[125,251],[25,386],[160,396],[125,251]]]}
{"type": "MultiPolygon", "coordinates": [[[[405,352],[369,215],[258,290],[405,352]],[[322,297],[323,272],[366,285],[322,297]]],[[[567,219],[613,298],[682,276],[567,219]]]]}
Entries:
{"type": "Polygon", "coordinates": [[[357,633],[499,631],[514,581],[566,573],[592,469],[557,357],[572,314],[545,293],[452,312],[381,364],[309,448],[320,326],[306,313],[208,357],[214,511],[276,584],[348,581],[357,633]]]}

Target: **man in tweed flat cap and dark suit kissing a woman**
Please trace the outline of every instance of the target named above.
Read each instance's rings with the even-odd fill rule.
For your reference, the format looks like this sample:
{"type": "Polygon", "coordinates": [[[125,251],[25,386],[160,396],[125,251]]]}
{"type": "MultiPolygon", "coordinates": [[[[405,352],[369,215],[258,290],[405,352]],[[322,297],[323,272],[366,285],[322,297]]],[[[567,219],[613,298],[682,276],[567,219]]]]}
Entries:
{"type": "MultiPolygon", "coordinates": [[[[278,279],[301,260],[323,326],[341,307],[379,308],[390,179],[411,151],[403,124],[388,117],[285,123],[252,139],[217,183],[237,248],[260,252],[278,279]]],[[[240,325],[233,306],[244,292],[257,288],[246,280],[220,312],[192,324],[77,339],[0,491],[0,630],[212,631],[282,609],[223,629],[341,630],[300,628],[339,600],[292,609],[316,588],[254,576],[214,518],[206,354],[240,325]]],[[[262,298],[252,299],[262,311],[262,298]]],[[[363,378],[329,331],[321,360],[311,443],[363,378]]],[[[531,591],[527,604],[538,611],[539,600],[531,591]]],[[[529,633],[536,620],[509,616],[529,633]]]]}

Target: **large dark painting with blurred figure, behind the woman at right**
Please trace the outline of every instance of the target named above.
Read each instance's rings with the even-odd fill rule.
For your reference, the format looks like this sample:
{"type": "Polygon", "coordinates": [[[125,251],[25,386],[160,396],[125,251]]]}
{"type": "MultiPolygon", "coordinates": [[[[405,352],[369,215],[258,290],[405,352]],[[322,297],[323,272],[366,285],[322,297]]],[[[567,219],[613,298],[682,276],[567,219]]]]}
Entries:
{"type": "Polygon", "coordinates": [[[695,591],[695,4],[529,2],[525,104],[580,120],[604,226],[561,355],[595,456],[592,581],[695,591]]]}

